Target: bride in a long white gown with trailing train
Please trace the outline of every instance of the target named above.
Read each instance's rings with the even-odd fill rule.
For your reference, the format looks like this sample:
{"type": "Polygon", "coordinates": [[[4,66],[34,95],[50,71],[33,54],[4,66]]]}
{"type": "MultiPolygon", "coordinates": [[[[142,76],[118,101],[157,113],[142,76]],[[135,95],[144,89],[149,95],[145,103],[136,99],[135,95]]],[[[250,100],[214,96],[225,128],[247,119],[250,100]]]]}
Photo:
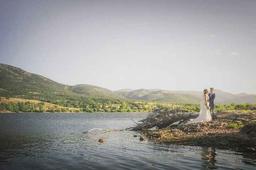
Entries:
{"type": "Polygon", "coordinates": [[[194,120],[188,121],[186,124],[212,120],[212,116],[210,114],[210,109],[209,109],[208,90],[204,89],[203,92],[204,92],[204,94],[202,95],[202,99],[200,102],[201,109],[200,109],[199,116],[194,120]]]}

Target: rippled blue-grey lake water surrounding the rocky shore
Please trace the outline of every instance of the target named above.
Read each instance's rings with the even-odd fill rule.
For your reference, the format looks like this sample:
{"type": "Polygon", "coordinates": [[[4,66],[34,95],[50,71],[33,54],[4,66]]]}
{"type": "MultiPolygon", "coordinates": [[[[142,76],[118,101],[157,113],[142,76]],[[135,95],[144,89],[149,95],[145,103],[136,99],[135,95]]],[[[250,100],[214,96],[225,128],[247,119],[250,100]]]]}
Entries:
{"type": "Polygon", "coordinates": [[[256,155],[139,141],[145,113],[2,113],[0,169],[256,169],[256,155]],[[105,138],[106,143],[99,143],[105,138]]]}

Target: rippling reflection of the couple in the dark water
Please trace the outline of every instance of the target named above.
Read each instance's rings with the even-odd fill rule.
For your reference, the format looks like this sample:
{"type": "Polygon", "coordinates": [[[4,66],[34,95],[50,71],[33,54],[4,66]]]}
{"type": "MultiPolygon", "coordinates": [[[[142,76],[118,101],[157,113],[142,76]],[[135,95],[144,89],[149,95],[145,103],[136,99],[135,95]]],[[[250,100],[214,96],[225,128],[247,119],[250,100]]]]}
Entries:
{"type": "Polygon", "coordinates": [[[207,169],[217,169],[216,163],[216,148],[202,148],[202,167],[207,169]]]}

